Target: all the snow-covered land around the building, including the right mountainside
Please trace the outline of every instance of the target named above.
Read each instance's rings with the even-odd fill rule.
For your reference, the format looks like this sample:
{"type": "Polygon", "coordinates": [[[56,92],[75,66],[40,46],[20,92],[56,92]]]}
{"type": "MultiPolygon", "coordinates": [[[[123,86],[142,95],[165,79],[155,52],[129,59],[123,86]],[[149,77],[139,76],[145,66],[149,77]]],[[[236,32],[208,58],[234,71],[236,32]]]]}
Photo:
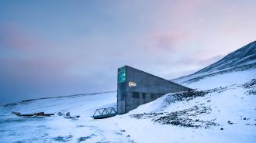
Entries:
{"type": "Polygon", "coordinates": [[[192,91],[166,94],[106,119],[90,116],[96,108],[116,107],[116,92],[7,104],[0,107],[0,142],[255,143],[255,51],[256,43],[250,43],[199,72],[173,80],[192,91]],[[12,111],[70,111],[81,117],[22,118],[12,111]]]}

